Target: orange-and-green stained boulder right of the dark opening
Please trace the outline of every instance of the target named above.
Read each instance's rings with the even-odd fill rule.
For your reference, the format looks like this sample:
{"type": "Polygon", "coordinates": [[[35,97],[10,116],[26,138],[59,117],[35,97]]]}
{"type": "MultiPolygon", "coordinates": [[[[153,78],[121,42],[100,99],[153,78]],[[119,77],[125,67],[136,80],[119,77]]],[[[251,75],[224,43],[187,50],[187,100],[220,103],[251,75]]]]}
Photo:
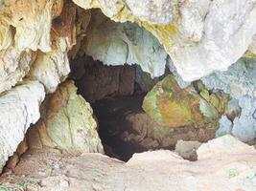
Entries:
{"type": "Polygon", "coordinates": [[[200,99],[179,88],[173,75],[158,82],[145,97],[143,109],[159,124],[182,127],[202,120],[200,99]]]}

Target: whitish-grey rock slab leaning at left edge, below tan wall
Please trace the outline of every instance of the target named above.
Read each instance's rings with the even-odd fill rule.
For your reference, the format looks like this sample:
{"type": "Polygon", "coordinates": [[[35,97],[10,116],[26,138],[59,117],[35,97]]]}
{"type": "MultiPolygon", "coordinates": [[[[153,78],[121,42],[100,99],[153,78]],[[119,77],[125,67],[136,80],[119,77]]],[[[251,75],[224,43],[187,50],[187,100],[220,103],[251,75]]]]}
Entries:
{"type": "Polygon", "coordinates": [[[44,96],[43,86],[36,81],[28,81],[0,96],[0,171],[30,125],[39,119],[44,96]]]}

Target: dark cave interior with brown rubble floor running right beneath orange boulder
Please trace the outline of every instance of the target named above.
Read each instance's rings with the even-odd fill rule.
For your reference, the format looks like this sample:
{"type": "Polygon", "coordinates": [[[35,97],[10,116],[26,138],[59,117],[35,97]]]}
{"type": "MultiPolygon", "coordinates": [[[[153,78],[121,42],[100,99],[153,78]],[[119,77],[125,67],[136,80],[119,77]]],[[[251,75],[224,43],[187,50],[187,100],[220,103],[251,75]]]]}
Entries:
{"type": "MultiPolygon", "coordinates": [[[[90,103],[105,154],[111,158],[127,161],[134,153],[176,150],[178,140],[205,142],[215,137],[216,128],[211,123],[163,126],[142,109],[144,97],[170,74],[168,70],[151,79],[137,65],[106,66],[86,55],[71,60],[70,65],[69,78],[75,81],[78,94],[90,103]]],[[[193,147],[194,143],[190,144],[193,147]]],[[[186,147],[189,155],[184,159],[196,160],[196,150],[186,147]]]]}

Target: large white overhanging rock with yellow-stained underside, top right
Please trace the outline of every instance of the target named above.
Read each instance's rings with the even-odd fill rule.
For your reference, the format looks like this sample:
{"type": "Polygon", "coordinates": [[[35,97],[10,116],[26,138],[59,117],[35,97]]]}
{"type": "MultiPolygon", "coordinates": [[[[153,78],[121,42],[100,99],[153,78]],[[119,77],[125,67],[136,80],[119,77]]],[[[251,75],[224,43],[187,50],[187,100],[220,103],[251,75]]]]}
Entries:
{"type": "Polygon", "coordinates": [[[100,8],[114,21],[137,22],[150,31],[186,81],[224,71],[243,56],[256,33],[253,0],[143,1],[73,0],[100,8]],[[168,11],[167,11],[168,10],[168,11]]]}

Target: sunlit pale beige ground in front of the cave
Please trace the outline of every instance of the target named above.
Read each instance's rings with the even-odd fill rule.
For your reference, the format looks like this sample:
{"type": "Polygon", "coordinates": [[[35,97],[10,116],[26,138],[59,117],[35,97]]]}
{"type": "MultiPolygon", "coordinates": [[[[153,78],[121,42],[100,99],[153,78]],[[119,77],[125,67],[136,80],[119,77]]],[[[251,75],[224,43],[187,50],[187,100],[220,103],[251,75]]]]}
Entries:
{"type": "Polygon", "coordinates": [[[202,144],[193,162],[164,150],[135,154],[126,163],[101,154],[28,153],[0,182],[10,188],[26,183],[29,190],[47,191],[253,191],[255,163],[253,147],[222,137],[202,144]]]}

